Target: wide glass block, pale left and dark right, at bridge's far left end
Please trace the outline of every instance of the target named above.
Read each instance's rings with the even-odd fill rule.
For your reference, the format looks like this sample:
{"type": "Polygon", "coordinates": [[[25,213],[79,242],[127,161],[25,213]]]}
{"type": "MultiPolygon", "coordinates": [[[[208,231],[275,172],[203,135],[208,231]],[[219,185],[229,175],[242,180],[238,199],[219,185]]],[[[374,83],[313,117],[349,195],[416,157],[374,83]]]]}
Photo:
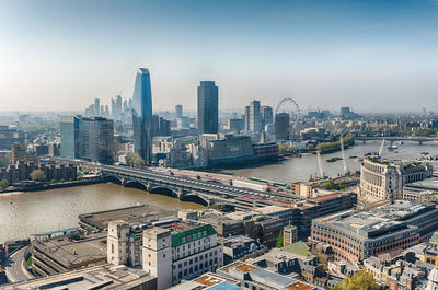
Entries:
{"type": "Polygon", "coordinates": [[[114,125],[102,117],[61,116],[61,156],[113,163],[114,125]]]}

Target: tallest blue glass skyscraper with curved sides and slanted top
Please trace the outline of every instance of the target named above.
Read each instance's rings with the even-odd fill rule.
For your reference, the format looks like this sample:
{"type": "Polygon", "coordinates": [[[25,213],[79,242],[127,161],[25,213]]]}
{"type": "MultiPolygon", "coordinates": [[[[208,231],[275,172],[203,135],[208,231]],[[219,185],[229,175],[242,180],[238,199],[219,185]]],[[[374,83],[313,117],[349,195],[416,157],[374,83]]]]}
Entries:
{"type": "Polygon", "coordinates": [[[134,149],[150,165],[152,161],[152,92],[149,70],[137,70],[132,94],[134,149]]]}

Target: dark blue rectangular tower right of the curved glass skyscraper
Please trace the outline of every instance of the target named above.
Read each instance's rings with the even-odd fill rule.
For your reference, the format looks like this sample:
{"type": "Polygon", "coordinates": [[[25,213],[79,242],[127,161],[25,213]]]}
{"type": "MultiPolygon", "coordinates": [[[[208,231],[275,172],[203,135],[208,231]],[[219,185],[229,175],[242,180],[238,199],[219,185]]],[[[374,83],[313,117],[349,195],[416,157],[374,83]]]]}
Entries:
{"type": "Polygon", "coordinates": [[[201,81],[198,86],[198,131],[217,134],[218,120],[218,86],[214,81],[201,81]]]}

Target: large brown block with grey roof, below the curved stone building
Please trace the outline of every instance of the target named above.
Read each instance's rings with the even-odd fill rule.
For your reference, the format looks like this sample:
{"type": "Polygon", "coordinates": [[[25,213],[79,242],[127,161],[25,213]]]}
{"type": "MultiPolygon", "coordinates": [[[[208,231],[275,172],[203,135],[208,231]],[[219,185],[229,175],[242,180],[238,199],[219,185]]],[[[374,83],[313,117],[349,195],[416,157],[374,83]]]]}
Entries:
{"type": "Polygon", "coordinates": [[[336,259],[357,264],[373,255],[406,250],[429,239],[437,229],[434,204],[396,200],[368,211],[314,219],[311,241],[328,243],[336,259]]]}

